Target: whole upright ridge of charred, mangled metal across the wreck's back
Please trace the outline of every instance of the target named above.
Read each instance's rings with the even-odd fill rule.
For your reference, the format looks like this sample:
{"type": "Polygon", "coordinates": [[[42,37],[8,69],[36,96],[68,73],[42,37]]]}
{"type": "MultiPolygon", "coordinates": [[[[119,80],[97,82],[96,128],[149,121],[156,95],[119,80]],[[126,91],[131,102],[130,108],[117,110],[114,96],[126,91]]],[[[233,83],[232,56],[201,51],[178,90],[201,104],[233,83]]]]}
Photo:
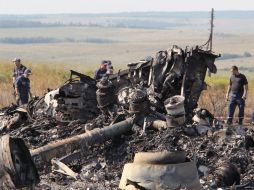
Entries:
{"type": "Polygon", "coordinates": [[[36,109],[32,112],[44,112],[62,122],[79,119],[85,123],[99,114],[98,105],[101,113],[113,119],[118,115],[119,108],[129,108],[128,101],[125,105],[121,104],[119,93],[129,96],[133,91],[131,89],[138,88],[147,93],[150,105],[162,114],[166,113],[166,99],[175,95],[184,96],[186,116],[190,121],[200,94],[206,88],[207,69],[211,73],[217,71],[214,64],[217,57],[198,46],[183,50],[174,45],[171,49],[159,51],[155,59],[148,57],[128,64],[128,69],[103,78],[97,82],[97,87],[95,80],[71,71],[70,79],[40,100],[44,106],[36,102],[36,109]],[[78,79],[73,78],[74,75],[78,79]],[[42,109],[39,109],[40,106],[42,109]]]}

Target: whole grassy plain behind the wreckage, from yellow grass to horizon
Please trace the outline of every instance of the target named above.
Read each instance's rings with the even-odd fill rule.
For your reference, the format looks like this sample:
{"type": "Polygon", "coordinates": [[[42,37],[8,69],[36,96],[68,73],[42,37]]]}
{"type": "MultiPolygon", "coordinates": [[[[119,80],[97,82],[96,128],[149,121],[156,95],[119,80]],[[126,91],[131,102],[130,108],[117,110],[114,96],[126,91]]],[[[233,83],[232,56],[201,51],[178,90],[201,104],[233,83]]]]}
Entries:
{"type": "MultiPolygon", "coordinates": [[[[200,105],[216,115],[225,115],[225,89],[232,65],[237,65],[250,81],[246,115],[254,105],[254,25],[250,24],[254,12],[237,14],[215,14],[213,51],[222,58],[216,61],[218,74],[206,79],[210,87],[200,105]],[[250,56],[244,56],[246,53],[250,56]]],[[[208,39],[208,28],[209,13],[0,16],[0,106],[13,102],[10,76],[14,57],[32,68],[33,94],[42,95],[47,88],[62,84],[70,69],[91,75],[102,59],[110,59],[117,71],[174,44],[183,49],[202,45],[208,39]],[[4,19],[61,25],[1,27],[4,19]],[[130,25],[113,27],[119,22],[130,25]]]]}

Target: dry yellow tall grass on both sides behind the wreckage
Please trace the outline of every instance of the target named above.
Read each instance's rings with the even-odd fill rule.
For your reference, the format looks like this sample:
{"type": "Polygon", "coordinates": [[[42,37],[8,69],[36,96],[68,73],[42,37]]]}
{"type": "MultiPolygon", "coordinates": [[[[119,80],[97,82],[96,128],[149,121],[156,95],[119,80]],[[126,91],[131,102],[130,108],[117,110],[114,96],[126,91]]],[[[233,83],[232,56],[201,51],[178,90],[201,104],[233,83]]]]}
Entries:
{"type": "MultiPolygon", "coordinates": [[[[74,65],[56,63],[24,64],[32,69],[33,74],[30,78],[31,92],[37,96],[43,95],[48,88],[55,89],[63,84],[69,77],[69,70],[74,67],[74,65]]],[[[8,106],[15,102],[11,77],[13,66],[10,61],[0,61],[0,107],[8,106]]],[[[76,68],[80,68],[80,66],[76,66],[76,68]]],[[[93,74],[89,66],[82,66],[82,70],[78,71],[90,76],[93,74]]],[[[247,74],[247,78],[249,79],[250,89],[246,101],[246,116],[249,117],[254,106],[254,92],[252,91],[254,89],[254,78],[250,74],[247,74]]],[[[225,117],[228,103],[225,99],[228,81],[229,74],[226,72],[219,72],[218,75],[212,78],[207,77],[208,89],[202,92],[199,107],[208,109],[215,116],[225,117]]]]}

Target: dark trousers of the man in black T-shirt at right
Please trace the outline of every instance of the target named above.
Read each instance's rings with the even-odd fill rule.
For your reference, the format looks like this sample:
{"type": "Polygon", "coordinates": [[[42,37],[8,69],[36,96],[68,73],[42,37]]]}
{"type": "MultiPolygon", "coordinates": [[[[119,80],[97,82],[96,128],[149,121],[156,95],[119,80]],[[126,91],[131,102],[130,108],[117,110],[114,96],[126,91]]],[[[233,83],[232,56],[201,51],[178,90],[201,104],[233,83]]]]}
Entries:
{"type": "Polygon", "coordinates": [[[239,108],[238,113],[239,123],[243,122],[245,100],[242,98],[242,96],[232,94],[228,105],[228,120],[227,120],[228,124],[231,124],[233,121],[236,106],[238,106],[239,108]]]}

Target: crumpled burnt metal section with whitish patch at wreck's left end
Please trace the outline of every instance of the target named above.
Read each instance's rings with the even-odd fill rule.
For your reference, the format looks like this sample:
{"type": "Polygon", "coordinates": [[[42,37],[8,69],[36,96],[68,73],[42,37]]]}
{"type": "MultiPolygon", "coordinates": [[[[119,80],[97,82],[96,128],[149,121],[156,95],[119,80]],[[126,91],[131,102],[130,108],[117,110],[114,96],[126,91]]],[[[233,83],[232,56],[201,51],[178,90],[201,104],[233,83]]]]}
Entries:
{"type": "Polygon", "coordinates": [[[70,79],[61,87],[28,104],[31,115],[46,114],[60,122],[80,120],[84,123],[98,115],[96,81],[76,71],[70,72],[70,79]]]}

